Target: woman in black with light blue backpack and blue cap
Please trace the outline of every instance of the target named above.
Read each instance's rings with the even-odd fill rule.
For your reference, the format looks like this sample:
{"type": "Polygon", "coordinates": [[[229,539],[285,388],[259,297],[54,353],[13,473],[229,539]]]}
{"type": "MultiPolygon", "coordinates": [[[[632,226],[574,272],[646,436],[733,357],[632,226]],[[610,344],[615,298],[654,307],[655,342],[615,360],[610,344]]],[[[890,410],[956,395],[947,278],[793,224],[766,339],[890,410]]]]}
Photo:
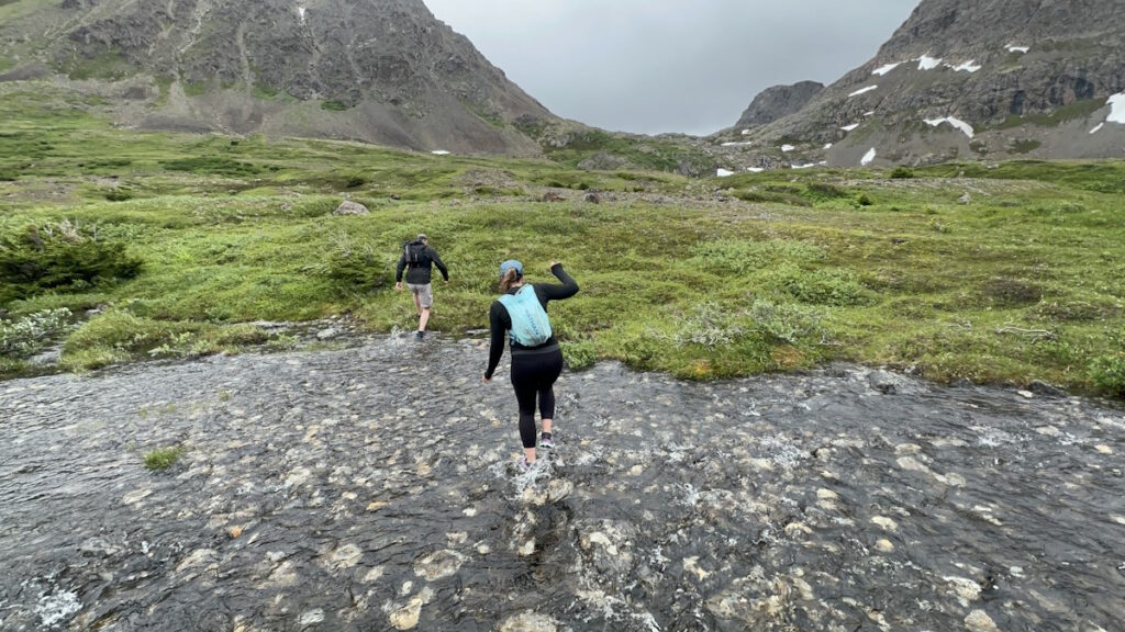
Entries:
{"type": "Polygon", "coordinates": [[[578,294],[578,283],[562,270],[562,264],[551,262],[551,274],[562,282],[560,286],[523,282],[523,264],[508,260],[500,264],[500,299],[488,310],[492,329],[492,347],[488,352],[488,370],[485,383],[492,381],[493,372],[504,354],[504,337],[512,345],[512,386],[520,406],[520,439],[523,441],[523,458],[520,466],[528,468],[536,462],[536,399],[539,399],[539,416],[543,422],[543,434],[539,446],[555,448],[551,440],[551,422],[555,421],[555,380],[562,372],[562,350],[551,333],[547,318],[547,304],[551,300],[570,298],[578,294]]]}

